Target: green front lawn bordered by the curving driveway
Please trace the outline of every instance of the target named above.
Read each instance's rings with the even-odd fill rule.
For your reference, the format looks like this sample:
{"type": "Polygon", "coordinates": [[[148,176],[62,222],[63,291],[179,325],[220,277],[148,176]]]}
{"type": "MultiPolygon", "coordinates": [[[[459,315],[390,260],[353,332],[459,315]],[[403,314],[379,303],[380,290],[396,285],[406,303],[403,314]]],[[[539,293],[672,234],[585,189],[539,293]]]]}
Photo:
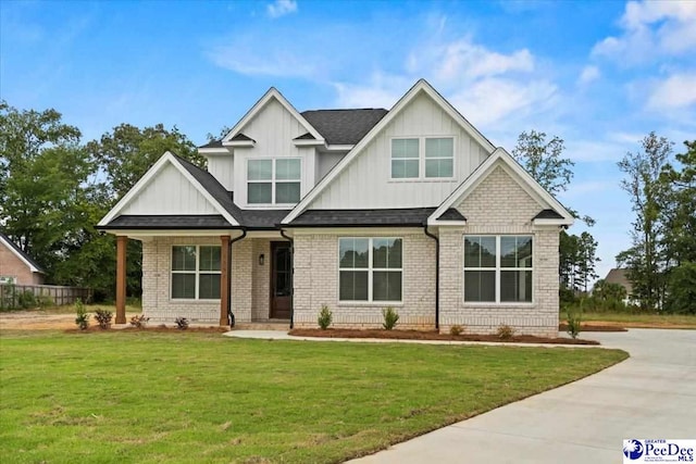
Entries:
{"type": "Polygon", "coordinates": [[[0,336],[0,462],[341,462],[592,374],[618,350],[0,336]]]}

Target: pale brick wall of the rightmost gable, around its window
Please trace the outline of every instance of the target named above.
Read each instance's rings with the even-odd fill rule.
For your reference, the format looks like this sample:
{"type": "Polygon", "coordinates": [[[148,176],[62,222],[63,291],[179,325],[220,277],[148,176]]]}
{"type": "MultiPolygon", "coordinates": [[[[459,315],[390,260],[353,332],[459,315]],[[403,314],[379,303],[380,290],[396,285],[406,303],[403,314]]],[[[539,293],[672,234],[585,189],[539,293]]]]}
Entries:
{"type": "Polygon", "coordinates": [[[457,209],[467,225],[440,230],[440,330],[463,325],[468,333],[492,334],[499,325],[518,334],[558,335],[557,227],[533,227],[542,209],[497,167],[457,209]],[[534,301],[531,304],[472,304],[462,299],[464,234],[526,234],[534,237],[534,301]]]}

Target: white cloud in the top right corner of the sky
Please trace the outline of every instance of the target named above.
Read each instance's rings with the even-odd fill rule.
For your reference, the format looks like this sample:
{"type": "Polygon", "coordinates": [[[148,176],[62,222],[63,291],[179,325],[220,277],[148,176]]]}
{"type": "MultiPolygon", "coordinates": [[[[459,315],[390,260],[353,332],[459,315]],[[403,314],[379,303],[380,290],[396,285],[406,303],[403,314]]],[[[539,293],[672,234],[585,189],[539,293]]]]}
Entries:
{"type": "Polygon", "coordinates": [[[594,57],[638,64],[693,53],[696,48],[696,2],[692,0],[630,1],[619,24],[622,35],[597,42],[594,57]]]}

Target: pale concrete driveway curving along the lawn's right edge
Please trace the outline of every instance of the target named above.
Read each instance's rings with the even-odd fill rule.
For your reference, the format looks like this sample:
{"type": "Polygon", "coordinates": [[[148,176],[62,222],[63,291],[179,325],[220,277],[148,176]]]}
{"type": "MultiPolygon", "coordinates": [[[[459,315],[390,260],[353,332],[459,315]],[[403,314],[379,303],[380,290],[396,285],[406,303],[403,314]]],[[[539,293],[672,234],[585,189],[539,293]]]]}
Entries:
{"type": "Polygon", "coordinates": [[[631,358],[351,463],[618,463],[624,438],[696,438],[696,330],[592,334],[631,358]]]}

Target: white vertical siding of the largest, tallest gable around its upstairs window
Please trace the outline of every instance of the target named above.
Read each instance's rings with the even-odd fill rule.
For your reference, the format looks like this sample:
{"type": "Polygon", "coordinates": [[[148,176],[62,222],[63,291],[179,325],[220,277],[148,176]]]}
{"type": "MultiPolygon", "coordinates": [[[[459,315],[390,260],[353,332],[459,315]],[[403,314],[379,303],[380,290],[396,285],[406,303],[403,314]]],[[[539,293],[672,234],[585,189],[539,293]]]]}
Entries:
{"type": "Polygon", "coordinates": [[[446,111],[421,93],[358,153],[308,209],[438,205],[488,154],[446,111]],[[440,136],[455,138],[453,179],[391,180],[393,138],[440,136]]]}

